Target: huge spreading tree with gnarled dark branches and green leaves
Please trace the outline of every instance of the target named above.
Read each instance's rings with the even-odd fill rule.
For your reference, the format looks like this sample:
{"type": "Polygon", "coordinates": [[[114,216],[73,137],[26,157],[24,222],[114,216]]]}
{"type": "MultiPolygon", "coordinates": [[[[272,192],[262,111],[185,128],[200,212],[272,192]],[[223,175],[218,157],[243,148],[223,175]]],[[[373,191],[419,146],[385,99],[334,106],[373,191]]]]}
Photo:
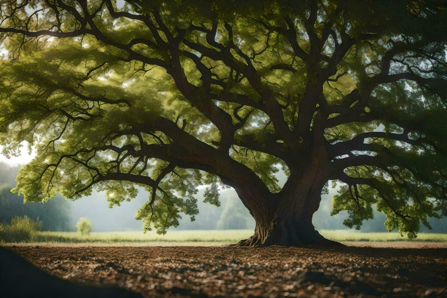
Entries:
{"type": "Polygon", "coordinates": [[[329,180],[349,227],[376,205],[415,237],[447,214],[442,1],[0,2],[1,143],[37,150],[25,201],[139,185],[163,233],[228,185],[256,220],[241,245],[331,243],[312,225],[329,180]]]}

